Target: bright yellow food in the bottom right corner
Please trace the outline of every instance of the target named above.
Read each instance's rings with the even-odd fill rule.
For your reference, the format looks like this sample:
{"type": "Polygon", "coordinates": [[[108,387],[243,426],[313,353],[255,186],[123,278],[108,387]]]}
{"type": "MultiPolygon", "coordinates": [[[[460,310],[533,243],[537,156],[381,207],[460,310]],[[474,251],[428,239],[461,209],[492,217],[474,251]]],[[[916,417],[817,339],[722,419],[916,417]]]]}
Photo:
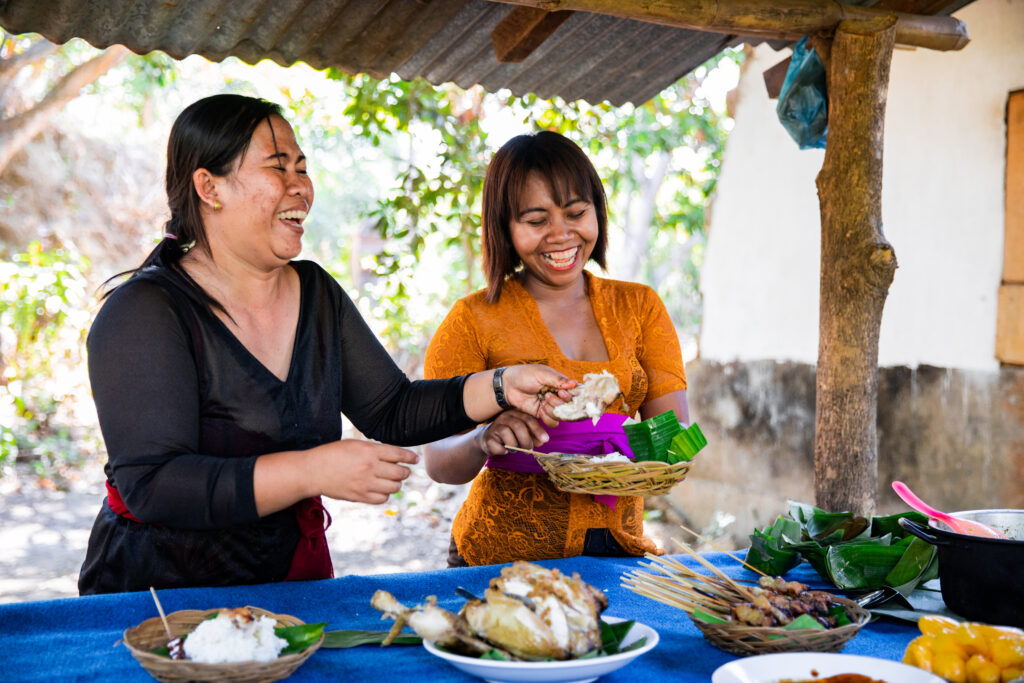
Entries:
{"type": "Polygon", "coordinates": [[[1009,683],[1024,678],[1024,631],[938,614],[918,620],[903,663],[952,683],[1009,683]]]}

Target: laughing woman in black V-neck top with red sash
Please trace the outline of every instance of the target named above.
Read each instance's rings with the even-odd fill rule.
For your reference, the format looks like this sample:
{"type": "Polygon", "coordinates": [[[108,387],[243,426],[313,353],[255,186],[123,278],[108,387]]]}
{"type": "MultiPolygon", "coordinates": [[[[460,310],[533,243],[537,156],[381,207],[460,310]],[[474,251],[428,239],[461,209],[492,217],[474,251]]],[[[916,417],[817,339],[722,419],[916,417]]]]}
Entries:
{"type": "MultiPolygon", "coordinates": [[[[544,366],[411,382],[318,265],[293,261],[313,201],[281,109],[215,95],[175,122],[171,219],[88,339],[108,501],[84,594],[333,575],[321,496],[380,504],[412,445],[514,407],[551,422],[544,366]]],[[[327,523],[330,523],[327,520],[327,523]]]]}

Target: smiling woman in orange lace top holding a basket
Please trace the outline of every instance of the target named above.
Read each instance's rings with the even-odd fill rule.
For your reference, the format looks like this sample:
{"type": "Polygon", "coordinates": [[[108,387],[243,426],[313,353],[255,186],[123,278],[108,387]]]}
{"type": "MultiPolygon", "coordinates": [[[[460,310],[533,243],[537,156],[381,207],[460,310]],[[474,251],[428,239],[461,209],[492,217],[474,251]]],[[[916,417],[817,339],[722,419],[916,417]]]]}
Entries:
{"type": "MultiPolygon", "coordinates": [[[[482,228],[487,288],[441,324],[427,378],[524,362],[581,381],[607,370],[624,394],[609,413],[646,419],[672,410],[689,422],[679,340],[657,294],[584,270],[589,260],[605,267],[607,213],[600,178],[575,143],[547,131],[509,140],[487,167],[482,228]]],[[[620,430],[623,419],[612,419],[620,430]]],[[[453,524],[450,565],[656,552],[643,536],[642,498],[609,505],[558,490],[539,467],[503,464],[506,445],[548,440],[540,421],[507,410],[425,449],[436,481],[473,480],[453,524]]]]}

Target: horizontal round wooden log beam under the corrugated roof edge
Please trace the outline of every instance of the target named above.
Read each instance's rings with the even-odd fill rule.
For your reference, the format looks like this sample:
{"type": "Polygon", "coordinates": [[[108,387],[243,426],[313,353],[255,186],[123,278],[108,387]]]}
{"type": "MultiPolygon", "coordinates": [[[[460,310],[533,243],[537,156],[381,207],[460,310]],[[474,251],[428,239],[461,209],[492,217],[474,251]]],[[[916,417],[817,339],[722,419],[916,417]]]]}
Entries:
{"type": "Polygon", "coordinates": [[[828,35],[840,22],[896,18],[896,42],[933,50],[958,50],[967,27],[952,16],[924,16],[844,5],[836,0],[493,0],[546,10],[572,9],[680,29],[769,40],[828,35]]]}

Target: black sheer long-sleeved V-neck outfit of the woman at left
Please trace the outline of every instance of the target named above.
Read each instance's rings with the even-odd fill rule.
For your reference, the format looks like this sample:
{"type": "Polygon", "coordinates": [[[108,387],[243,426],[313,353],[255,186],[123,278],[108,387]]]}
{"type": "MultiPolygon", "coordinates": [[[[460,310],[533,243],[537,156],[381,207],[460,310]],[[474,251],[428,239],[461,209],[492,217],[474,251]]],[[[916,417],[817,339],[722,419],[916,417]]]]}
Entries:
{"type": "Polygon", "coordinates": [[[472,426],[465,378],[411,382],[330,274],[292,266],[301,309],[285,381],[167,268],[139,272],[99,311],[87,346],[106,477],[142,523],[103,504],[82,594],[281,581],[299,530],[291,509],[256,513],[258,456],[339,439],[342,413],[398,445],[472,426]]]}

